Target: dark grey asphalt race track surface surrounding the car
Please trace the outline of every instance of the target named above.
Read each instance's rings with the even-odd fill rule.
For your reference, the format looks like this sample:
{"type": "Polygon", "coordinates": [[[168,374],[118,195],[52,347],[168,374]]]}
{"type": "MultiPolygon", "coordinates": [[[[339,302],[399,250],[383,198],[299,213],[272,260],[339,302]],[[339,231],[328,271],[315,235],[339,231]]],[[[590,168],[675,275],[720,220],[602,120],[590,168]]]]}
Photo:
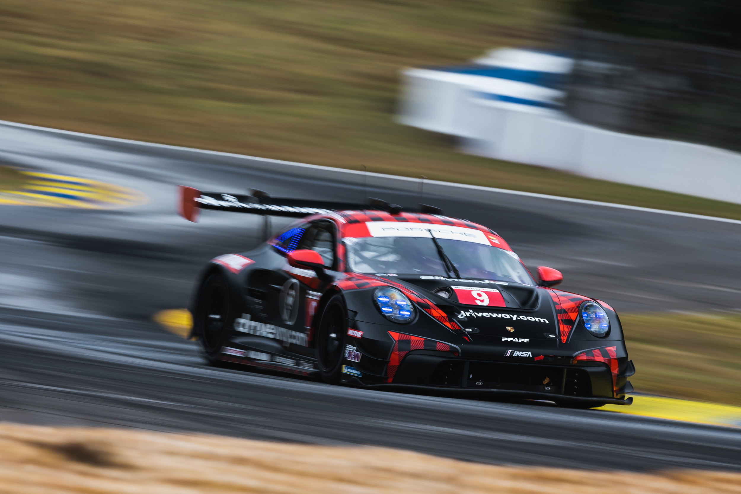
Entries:
{"type": "MultiPolygon", "coordinates": [[[[0,159],[150,197],[123,210],[0,206],[0,420],[373,444],[497,464],[741,470],[741,430],[215,369],[195,344],[151,322],[159,310],[187,305],[205,261],[261,236],[262,218],[252,215],[179,218],[176,184],[357,200],[363,186],[354,177],[316,181],[256,171],[250,160],[1,125],[0,159]]],[[[374,182],[368,190],[416,203],[416,191],[374,182]]],[[[565,290],[618,311],[741,305],[740,224],[506,194],[425,202],[492,227],[528,266],[556,267],[565,290]]],[[[273,227],[282,224],[276,218],[273,227]]]]}

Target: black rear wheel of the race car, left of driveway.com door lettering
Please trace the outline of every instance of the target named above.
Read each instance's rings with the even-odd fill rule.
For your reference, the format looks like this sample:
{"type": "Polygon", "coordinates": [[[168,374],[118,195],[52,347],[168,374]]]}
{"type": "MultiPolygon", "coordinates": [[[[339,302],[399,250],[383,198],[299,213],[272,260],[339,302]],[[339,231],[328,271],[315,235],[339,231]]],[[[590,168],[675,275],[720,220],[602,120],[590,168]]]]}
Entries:
{"type": "Polygon", "coordinates": [[[219,272],[211,273],[201,285],[193,314],[194,334],[199,337],[203,356],[208,364],[216,367],[224,365],[219,354],[229,338],[231,298],[225,276],[219,272]]]}

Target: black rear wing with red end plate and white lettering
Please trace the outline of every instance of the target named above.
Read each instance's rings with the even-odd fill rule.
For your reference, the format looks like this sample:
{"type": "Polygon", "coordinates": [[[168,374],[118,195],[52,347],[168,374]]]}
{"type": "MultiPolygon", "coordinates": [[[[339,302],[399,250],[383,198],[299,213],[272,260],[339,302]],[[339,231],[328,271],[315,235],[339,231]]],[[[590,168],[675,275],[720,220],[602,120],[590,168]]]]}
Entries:
{"type": "Polygon", "coordinates": [[[198,221],[199,210],[232,211],[270,216],[303,218],[313,214],[337,210],[376,210],[398,213],[402,208],[380,199],[369,199],[369,204],[349,202],[312,201],[310,199],[273,198],[262,190],[252,195],[201,192],[193,187],[179,185],[178,213],[188,221],[198,221]]]}

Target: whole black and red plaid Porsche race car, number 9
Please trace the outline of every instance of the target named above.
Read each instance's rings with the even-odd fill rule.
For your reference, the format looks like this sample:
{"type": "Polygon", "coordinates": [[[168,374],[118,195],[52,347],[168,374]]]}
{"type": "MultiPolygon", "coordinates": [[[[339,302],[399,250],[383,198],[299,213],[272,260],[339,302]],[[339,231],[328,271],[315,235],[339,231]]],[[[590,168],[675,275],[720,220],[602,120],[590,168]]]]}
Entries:
{"type": "Polygon", "coordinates": [[[555,401],[631,404],[635,370],[617,313],[534,279],[507,242],[471,221],[371,204],[202,193],[201,209],[299,217],[261,247],[213,258],[193,299],[208,361],[332,384],[459,390],[555,401]]]}

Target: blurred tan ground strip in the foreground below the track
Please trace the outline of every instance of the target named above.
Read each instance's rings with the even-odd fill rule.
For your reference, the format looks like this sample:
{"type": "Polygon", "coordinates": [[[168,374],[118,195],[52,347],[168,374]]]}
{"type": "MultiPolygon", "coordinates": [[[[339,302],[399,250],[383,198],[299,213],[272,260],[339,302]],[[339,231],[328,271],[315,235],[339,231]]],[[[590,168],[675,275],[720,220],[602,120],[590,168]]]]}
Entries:
{"type": "Polygon", "coordinates": [[[0,489],[41,493],[741,493],[741,473],[496,467],[379,447],[0,425],[0,489]]]}

